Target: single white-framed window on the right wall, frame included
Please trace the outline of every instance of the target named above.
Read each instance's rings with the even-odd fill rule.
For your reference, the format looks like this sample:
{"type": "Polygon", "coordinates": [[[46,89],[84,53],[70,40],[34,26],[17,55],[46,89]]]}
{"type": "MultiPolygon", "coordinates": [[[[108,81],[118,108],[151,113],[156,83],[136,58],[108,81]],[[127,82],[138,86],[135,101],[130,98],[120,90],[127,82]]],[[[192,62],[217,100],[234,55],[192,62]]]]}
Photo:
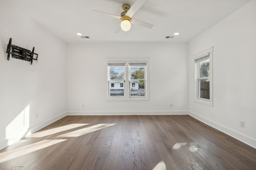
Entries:
{"type": "Polygon", "coordinates": [[[212,51],[207,49],[194,58],[195,102],[212,106],[212,51]]]}

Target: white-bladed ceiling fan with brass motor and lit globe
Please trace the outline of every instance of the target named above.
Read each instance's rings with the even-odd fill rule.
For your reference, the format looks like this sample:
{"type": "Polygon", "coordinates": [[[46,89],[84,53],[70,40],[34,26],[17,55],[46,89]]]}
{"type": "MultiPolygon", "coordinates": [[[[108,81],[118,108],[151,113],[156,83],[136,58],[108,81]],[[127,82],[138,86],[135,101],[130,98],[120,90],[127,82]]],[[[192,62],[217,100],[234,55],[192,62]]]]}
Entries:
{"type": "Polygon", "coordinates": [[[120,29],[122,29],[123,31],[129,31],[131,28],[131,23],[151,29],[154,25],[132,18],[134,16],[134,14],[140,9],[140,7],[142,7],[142,5],[145,2],[146,2],[146,0],[136,0],[136,2],[134,2],[134,4],[132,6],[130,6],[129,4],[123,4],[122,9],[124,11],[121,13],[120,16],[108,14],[106,12],[101,12],[101,11],[97,11],[97,10],[92,10],[92,11],[100,12],[100,13],[110,16],[112,18],[120,19],[121,23],[118,26],[118,28],[116,29],[115,33],[118,33],[120,31],[120,29]]]}

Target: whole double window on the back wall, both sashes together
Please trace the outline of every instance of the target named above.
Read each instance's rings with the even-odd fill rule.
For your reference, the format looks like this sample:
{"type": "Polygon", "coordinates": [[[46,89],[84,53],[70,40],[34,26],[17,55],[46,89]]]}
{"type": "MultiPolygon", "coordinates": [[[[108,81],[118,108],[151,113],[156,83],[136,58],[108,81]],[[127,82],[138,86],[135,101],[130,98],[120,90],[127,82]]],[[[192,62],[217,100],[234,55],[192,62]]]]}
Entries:
{"type": "Polygon", "coordinates": [[[147,69],[148,59],[108,61],[107,100],[149,100],[147,69]]]}

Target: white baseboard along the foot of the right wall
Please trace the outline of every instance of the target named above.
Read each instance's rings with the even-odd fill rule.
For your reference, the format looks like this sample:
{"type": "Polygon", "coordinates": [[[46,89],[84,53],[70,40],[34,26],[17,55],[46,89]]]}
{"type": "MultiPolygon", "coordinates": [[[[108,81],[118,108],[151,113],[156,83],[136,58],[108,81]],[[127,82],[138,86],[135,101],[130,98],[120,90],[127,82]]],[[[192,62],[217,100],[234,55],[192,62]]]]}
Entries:
{"type": "Polygon", "coordinates": [[[255,139],[252,139],[252,138],[250,138],[246,135],[243,135],[237,131],[234,131],[228,127],[220,125],[214,121],[206,119],[205,117],[202,117],[196,113],[193,113],[192,111],[188,111],[188,115],[194,117],[195,119],[198,119],[199,121],[205,123],[206,125],[213,127],[214,129],[222,131],[223,133],[226,133],[227,135],[230,135],[231,137],[234,137],[235,139],[237,139],[247,145],[250,145],[251,147],[254,147],[256,149],[256,140],[255,139]]]}

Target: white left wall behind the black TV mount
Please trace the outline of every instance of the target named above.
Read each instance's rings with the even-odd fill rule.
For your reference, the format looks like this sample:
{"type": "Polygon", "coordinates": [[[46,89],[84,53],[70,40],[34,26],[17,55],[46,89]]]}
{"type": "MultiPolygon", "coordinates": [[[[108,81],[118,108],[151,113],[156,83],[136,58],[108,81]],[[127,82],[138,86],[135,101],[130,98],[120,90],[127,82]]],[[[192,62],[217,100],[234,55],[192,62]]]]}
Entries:
{"type": "Polygon", "coordinates": [[[0,149],[66,114],[66,44],[11,7],[0,2],[0,149]],[[38,62],[8,61],[10,38],[38,62]]]}

